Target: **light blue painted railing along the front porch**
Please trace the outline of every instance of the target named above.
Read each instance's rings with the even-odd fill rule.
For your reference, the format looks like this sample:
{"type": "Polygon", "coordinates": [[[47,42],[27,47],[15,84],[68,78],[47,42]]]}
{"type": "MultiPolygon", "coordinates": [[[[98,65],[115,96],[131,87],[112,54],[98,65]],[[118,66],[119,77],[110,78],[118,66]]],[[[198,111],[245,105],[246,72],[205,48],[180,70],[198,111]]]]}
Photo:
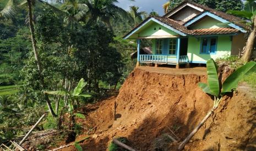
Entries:
{"type": "MultiPolygon", "coordinates": [[[[140,62],[149,63],[177,63],[177,56],[173,55],[139,55],[140,62]]],[[[179,56],[178,63],[187,63],[188,56],[179,56]]]]}

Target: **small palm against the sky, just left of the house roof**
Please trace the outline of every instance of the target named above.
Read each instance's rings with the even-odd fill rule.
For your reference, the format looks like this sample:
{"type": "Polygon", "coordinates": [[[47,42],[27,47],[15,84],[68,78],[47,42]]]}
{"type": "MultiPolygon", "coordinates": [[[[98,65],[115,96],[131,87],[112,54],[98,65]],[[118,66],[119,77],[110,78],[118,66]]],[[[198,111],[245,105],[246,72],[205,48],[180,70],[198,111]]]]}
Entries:
{"type": "Polygon", "coordinates": [[[136,27],[143,20],[143,15],[146,15],[146,11],[139,11],[139,7],[133,5],[130,6],[129,14],[132,16],[134,27],[136,27]]]}

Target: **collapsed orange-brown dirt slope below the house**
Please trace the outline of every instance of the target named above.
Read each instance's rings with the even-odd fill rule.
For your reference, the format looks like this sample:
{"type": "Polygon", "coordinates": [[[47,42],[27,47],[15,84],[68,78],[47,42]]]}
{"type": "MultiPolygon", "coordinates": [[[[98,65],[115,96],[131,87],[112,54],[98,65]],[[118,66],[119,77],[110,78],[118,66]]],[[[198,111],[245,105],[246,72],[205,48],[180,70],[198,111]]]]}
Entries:
{"type": "MultiPolygon", "coordinates": [[[[213,106],[211,97],[198,88],[206,75],[172,75],[135,69],[119,95],[81,109],[88,113],[80,120],[94,127],[83,142],[84,150],[106,150],[113,137],[127,137],[138,150],[175,150],[167,135],[171,131],[186,137],[213,106]],[[166,135],[167,134],[167,135],[166,135]]],[[[225,97],[216,114],[186,146],[186,150],[237,150],[254,148],[255,97],[243,86],[232,98],[225,97]]],[[[172,135],[173,136],[173,135],[172,135]]],[[[63,150],[75,150],[74,147],[63,150]]]]}

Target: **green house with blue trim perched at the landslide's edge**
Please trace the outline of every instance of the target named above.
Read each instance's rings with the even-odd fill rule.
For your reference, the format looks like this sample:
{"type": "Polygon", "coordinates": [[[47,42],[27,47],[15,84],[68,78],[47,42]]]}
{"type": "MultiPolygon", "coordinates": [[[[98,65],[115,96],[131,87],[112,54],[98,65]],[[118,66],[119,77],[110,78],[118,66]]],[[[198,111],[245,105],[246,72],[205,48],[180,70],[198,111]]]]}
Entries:
{"type": "Polygon", "coordinates": [[[155,63],[178,68],[181,64],[241,54],[248,31],[241,21],[222,11],[184,1],[164,16],[145,19],[123,38],[137,39],[138,65],[155,63]],[[140,54],[141,39],[152,40],[152,55],[140,54]]]}

